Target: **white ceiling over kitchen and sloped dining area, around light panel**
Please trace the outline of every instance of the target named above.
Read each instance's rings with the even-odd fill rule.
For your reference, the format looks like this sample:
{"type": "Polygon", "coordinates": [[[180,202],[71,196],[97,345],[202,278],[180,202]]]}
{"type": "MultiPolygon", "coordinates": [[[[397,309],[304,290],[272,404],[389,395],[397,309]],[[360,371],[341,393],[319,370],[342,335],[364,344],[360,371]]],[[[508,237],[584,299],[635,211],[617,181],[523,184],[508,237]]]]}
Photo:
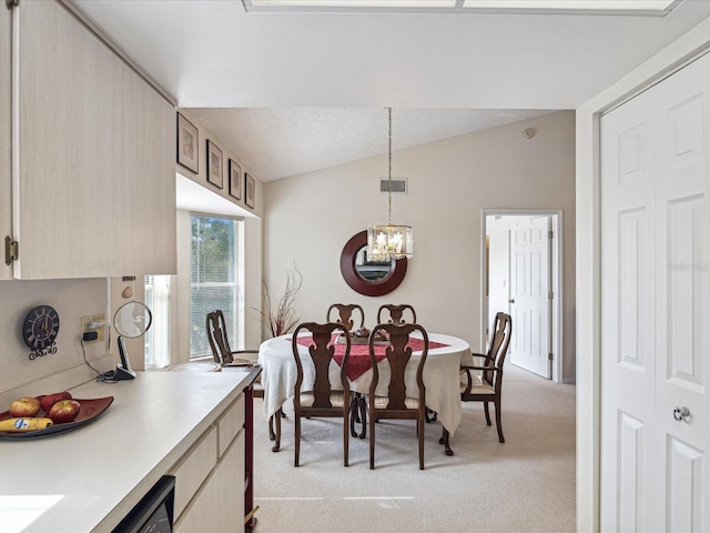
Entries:
{"type": "Polygon", "coordinates": [[[240,0],[74,0],[271,181],[576,109],[690,28],[572,14],[247,13],[240,0]]]}

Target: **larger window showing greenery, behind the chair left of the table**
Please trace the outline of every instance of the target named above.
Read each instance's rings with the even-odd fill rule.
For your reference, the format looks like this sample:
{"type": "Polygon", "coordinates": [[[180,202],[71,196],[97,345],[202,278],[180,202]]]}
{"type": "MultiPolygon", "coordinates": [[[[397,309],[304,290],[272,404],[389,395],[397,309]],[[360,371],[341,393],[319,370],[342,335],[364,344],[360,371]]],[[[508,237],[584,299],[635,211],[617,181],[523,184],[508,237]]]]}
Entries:
{"type": "Polygon", "coordinates": [[[236,350],[239,310],[237,224],[240,221],[210,215],[192,215],[192,251],[190,258],[190,359],[211,355],[205,331],[205,316],[221,309],[236,350]]]}

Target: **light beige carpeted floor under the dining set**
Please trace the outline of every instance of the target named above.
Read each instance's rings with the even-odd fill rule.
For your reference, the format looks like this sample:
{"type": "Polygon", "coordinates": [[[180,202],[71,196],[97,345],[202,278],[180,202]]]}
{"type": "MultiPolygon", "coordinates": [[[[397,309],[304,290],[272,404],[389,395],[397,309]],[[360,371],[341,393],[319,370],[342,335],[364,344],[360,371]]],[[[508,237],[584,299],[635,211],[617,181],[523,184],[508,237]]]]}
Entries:
{"type": "Polygon", "coordinates": [[[273,453],[256,400],[256,533],[574,532],[575,386],[513,365],[504,380],[505,444],[481,404],[465,403],[454,456],[438,444],[440,424],[426,424],[424,471],[413,421],[377,424],[376,470],[367,439],[351,439],[343,466],[336,419],[303,421],[294,467],[291,412],[273,453]]]}

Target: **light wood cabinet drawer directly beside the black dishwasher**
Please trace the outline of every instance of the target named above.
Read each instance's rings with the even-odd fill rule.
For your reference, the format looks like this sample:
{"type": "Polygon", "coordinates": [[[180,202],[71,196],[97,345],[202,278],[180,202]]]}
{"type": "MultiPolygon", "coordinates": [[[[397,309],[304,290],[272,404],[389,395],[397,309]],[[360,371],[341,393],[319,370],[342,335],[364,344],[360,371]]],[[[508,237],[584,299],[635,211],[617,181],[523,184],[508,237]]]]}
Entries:
{"type": "Polygon", "coordinates": [[[175,517],[180,516],[217,462],[217,432],[210,428],[200,443],[173,467],[175,476],[175,517]]]}

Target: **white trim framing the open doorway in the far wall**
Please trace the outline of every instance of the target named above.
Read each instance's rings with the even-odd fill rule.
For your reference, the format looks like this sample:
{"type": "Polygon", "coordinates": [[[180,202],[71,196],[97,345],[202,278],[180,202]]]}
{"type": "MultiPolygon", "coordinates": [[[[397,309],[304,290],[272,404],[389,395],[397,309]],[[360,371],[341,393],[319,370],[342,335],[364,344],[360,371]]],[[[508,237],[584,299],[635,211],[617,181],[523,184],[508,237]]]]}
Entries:
{"type": "MultiPolygon", "coordinates": [[[[564,354],[562,354],[562,332],[564,324],[564,283],[562,283],[562,210],[561,209],[483,209],[480,211],[480,294],[486,294],[486,218],[487,217],[549,217],[550,227],[552,229],[552,257],[550,258],[551,268],[551,285],[552,291],[552,309],[551,309],[551,326],[552,334],[550,339],[550,350],[552,352],[552,381],[555,383],[562,382],[564,372],[564,354]]],[[[486,328],[488,326],[488,315],[486,313],[485,298],[480,299],[480,353],[485,353],[484,339],[486,339],[486,328]]]]}

